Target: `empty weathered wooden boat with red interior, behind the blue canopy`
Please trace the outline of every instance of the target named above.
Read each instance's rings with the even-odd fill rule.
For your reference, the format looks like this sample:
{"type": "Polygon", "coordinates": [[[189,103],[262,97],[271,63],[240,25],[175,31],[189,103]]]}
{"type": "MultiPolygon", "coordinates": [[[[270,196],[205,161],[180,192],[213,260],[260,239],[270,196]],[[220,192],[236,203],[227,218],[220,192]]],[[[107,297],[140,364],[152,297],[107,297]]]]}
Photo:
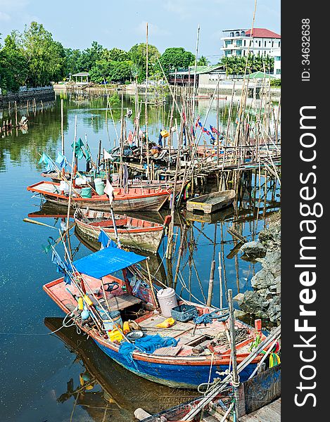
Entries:
{"type": "MultiPolygon", "coordinates": [[[[168,217],[164,225],[127,217],[127,215],[116,215],[115,224],[121,245],[156,253],[165,234],[166,226],[170,222],[170,216],[168,217]]],[[[74,218],[77,232],[82,236],[97,240],[103,230],[113,241],[116,241],[110,212],[78,208],[74,218]]]]}

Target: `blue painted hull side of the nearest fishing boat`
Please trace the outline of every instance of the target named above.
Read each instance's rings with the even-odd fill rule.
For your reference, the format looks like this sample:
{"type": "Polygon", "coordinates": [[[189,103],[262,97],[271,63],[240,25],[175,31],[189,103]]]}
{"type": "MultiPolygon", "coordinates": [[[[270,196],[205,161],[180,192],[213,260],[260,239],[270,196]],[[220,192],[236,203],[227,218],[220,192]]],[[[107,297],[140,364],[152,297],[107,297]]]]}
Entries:
{"type": "MultiPolygon", "coordinates": [[[[176,388],[193,388],[196,389],[199,384],[207,383],[210,375],[210,365],[189,365],[189,364],[156,364],[154,362],[137,361],[128,362],[123,354],[105,347],[101,343],[94,340],[95,343],[115,362],[124,366],[128,371],[146,378],[155,383],[168,385],[176,388]]],[[[253,373],[257,364],[249,364],[239,374],[241,381],[246,381],[253,373]]],[[[216,371],[223,372],[228,369],[228,365],[213,365],[210,381],[214,378],[220,378],[216,371]]]]}

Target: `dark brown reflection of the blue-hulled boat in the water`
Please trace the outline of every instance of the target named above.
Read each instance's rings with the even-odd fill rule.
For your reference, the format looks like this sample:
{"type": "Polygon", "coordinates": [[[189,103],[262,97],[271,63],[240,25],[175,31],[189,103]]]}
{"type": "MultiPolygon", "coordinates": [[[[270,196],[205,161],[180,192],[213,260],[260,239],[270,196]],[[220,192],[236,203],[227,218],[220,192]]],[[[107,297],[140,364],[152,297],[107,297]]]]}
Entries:
{"type": "MultiPolygon", "coordinates": [[[[49,330],[58,330],[63,324],[63,318],[45,318],[44,324],[49,330]]],[[[134,410],[143,407],[153,414],[166,407],[172,407],[192,399],[196,392],[189,390],[172,390],[164,385],[156,385],[144,378],[128,372],[106,356],[86,335],[78,335],[75,327],[62,328],[56,336],[63,340],[70,352],[77,354],[75,362],[81,361],[84,368],[80,378],[85,378],[84,385],[94,383],[94,388],[86,390],[82,380],[68,381],[68,390],[58,397],[58,402],[64,402],[70,397],[77,397],[77,404],[93,417],[94,421],[102,421],[105,409],[111,414],[111,420],[118,422],[135,421],[134,410]],[[73,388],[75,384],[77,387],[73,388]],[[132,388],[134,385],[134,388],[132,388]]]]}

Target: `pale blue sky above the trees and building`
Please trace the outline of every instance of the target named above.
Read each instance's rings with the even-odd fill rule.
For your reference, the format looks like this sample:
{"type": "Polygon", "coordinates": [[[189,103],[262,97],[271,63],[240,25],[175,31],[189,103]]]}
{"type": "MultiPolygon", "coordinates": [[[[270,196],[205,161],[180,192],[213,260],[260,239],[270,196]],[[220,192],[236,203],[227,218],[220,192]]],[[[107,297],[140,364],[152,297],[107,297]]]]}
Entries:
{"type": "MultiPolygon", "coordinates": [[[[254,0],[0,0],[2,40],[23,31],[32,20],[42,23],[63,46],[85,49],[91,41],[128,50],[149,42],[162,53],[169,46],[194,53],[201,25],[199,55],[216,63],[222,30],[250,27],[254,0]]],[[[255,27],[281,32],[280,0],[258,0],[255,27]]]]}

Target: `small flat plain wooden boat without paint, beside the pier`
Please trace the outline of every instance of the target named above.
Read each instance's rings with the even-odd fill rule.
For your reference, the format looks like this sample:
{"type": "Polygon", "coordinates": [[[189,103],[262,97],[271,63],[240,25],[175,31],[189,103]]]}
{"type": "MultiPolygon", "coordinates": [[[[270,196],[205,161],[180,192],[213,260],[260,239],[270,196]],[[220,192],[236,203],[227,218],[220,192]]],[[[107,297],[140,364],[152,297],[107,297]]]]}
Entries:
{"type": "Polygon", "coordinates": [[[229,191],[207,193],[206,195],[187,200],[186,210],[201,210],[205,212],[205,214],[210,214],[211,212],[219,211],[222,208],[231,205],[235,196],[236,193],[233,189],[230,189],[229,191]]]}

